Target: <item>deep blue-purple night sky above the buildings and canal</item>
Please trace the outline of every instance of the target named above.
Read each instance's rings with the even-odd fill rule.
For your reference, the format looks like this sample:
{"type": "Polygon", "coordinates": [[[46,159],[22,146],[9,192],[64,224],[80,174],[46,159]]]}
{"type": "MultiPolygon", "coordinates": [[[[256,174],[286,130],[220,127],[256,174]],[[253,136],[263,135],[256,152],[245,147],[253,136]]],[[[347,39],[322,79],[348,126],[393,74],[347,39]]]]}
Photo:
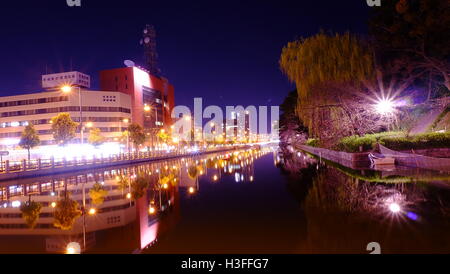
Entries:
{"type": "Polygon", "coordinates": [[[365,0],[314,1],[3,1],[0,95],[36,92],[46,71],[91,75],[142,64],[145,24],[157,32],[162,73],[176,104],[279,105],[294,86],[278,59],[287,42],[320,29],[366,33],[365,0]],[[71,61],[72,60],[72,61],[71,61]]]}

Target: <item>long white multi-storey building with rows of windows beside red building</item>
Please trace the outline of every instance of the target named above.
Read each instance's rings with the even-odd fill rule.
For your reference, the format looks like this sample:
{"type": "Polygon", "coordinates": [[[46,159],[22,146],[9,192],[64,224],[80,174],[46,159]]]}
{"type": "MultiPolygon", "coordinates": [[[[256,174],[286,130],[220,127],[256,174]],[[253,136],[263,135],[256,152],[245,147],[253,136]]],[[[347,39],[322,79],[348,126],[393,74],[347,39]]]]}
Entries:
{"type": "MultiPolygon", "coordinates": [[[[131,120],[131,98],[121,92],[81,89],[84,125],[99,128],[108,141],[117,141],[126,128],[124,120],[131,120]]],[[[32,123],[39,134],[41,145],[51,145],[53,134],[50,120],[58,113],[67,112],[75,122],[80,121],[79,91],[65,94],[60,90],[0,97],[0,149],[10,150],[19,143],[25,126],[32,123]]],[[[84,139],[87,142],[88,128],[84,139]]],[[[74,143],[81,140],[80,128],[74,143]]]]}

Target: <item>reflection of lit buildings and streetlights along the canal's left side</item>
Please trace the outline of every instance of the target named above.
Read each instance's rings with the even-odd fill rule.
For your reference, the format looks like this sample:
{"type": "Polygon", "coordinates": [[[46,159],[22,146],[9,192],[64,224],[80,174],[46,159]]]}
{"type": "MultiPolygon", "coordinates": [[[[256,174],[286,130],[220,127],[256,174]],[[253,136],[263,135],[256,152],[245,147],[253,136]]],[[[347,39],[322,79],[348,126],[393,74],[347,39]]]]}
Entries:
{"type": "Polygon", "coordinates": [[[0,182],[0,252],[64,253],[72,242],[82,251],[85,242],[88,253],[148,248],[176,225],[180,195],[200,194],[199,178],[252,182],[253,162],[264,153],[251,149],[0,182]],[[39,212],[25,211],[30,201],[40,204],[39,212]],[[30,228],[23,217],[32,214],[38,219],[30,228]]]}

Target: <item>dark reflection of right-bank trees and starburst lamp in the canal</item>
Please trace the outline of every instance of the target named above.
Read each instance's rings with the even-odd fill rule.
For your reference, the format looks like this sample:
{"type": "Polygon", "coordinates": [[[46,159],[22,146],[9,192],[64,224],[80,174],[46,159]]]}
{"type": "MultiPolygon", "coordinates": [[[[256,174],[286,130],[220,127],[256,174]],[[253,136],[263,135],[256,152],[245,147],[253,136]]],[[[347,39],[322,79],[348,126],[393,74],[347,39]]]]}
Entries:
{"type": "Polygon", "coordinates": [[[383,253],[450,251],[448,186],[370,183],[286,146],[277,157],[306,218],[300,252],[366,253],[369,242],[383,253]]]}

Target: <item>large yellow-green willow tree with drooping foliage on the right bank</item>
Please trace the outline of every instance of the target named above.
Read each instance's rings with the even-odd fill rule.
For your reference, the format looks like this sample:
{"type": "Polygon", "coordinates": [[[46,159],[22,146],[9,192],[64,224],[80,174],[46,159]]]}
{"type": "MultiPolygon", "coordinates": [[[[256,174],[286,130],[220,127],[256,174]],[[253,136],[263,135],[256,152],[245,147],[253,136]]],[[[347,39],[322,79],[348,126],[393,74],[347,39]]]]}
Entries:
{"type": "MultiPolygon", "coordinates": [[[[280,58],[281,70],[297,86],[297,113],[313,136],[320,137],[317,120],[329,119],[338,128],[345,115],[336,90],[329,86],[351,86],[358,90],[374,75],[371,49],[359,38],[345,34],[321,32],[288,43],[280,58]],[[318,88],[321,87],[321,88],[318,88]]],[[[347,89],[339,89],[346,92],[347,89]]]]}

